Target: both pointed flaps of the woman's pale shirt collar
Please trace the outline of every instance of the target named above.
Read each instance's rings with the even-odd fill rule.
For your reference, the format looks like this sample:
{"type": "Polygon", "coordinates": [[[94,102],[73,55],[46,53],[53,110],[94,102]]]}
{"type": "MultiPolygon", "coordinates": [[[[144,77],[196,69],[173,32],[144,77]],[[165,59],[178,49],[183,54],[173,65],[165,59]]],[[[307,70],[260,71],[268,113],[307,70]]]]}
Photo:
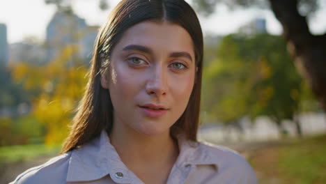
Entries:
{"type": "MultiPolygon", "coordinates": [[[[176,167],[185,167],[186,164],[217,164],[205,145],[187,141],[183,137],[178,137],[178,144],[180,154],[176,167]]],[[[107,174],[116,183],[139,180],[123,164],[116,149],[110,144],[107,132],[102,130],[99,137],[72,151],[66,181],[94,181],[107,174]],[[116,177],[118,172],[123,174],[122,178],[116,177]]]]}

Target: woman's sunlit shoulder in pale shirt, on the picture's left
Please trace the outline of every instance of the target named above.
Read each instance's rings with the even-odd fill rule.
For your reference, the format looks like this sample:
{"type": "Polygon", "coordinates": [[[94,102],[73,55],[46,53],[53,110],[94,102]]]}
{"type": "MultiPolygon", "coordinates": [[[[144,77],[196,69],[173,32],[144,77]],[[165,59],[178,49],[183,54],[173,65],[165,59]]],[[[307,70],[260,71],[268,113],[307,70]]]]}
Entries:
{"type": "Polygon", "coordinates": [[[9,184],[65,183],[71,152],[56,156],[36,167],[27,169],[9,184]]]}

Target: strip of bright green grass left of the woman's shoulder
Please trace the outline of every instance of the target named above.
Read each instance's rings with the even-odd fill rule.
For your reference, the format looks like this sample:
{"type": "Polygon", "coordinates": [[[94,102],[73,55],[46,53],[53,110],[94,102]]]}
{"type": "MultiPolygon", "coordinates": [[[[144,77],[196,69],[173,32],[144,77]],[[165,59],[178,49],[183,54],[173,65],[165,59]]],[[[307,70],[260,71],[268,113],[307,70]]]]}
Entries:
{"type": "Polygon", "coordinates": [[[45,146],[43,144],[29,144],[22,146],[0,147],[0,164],[30,160],[40,155],[55,155],[61,146],[45,146]]]}

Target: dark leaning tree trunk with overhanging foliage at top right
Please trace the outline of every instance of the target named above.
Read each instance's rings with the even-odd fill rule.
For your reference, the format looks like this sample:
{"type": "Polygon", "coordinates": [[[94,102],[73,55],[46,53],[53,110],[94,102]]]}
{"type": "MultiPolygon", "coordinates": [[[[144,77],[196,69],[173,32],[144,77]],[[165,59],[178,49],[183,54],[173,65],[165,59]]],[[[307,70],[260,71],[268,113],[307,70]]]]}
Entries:
{"type": "Polygon", "coordinates": [[[321,0],[194,0],[194,6],[203,15],[214,13],[217,3],[231,8],[270,8],[283,26],[283,36],[295,66],[326,110],[326,33],[313,35],[309,31],[307,17],[320,7],[321,0]]]}

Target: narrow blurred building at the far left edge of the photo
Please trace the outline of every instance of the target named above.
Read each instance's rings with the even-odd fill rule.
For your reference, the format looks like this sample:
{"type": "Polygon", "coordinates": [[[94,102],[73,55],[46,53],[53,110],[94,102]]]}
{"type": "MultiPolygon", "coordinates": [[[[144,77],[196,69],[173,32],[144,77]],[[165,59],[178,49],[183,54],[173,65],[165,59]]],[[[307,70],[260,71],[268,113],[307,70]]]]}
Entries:
{"type": "Polygon", "coordinates": [[[0,65],[6,66],[8,64],[8,40],[7,40],[7,26],[0,24],[0,65]]]}

